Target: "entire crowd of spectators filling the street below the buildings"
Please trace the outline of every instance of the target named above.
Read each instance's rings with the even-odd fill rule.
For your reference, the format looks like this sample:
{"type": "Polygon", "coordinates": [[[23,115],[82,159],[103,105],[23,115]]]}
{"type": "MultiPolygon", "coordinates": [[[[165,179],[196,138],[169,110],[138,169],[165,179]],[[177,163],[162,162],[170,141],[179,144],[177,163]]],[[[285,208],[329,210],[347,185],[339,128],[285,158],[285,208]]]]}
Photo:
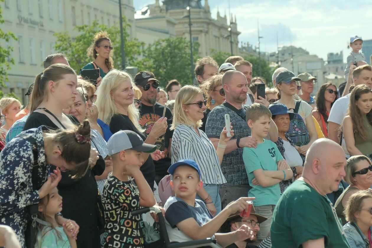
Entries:
{"type": "Polygon", "coordinates": [[[93,82],[49,55],[25,108],[0,99],[0,246],[162,247],[158,217],[132,214],[155,206],[170,242],[371,247],[362,42],[350,38],[345,84],[317,94],[317,78],[283,67],[269,88],[240,56],[201,58],[199,86],[174,79],[162,89],[150,71],[115,69],[105,32],[87,51],[93,82]]]}

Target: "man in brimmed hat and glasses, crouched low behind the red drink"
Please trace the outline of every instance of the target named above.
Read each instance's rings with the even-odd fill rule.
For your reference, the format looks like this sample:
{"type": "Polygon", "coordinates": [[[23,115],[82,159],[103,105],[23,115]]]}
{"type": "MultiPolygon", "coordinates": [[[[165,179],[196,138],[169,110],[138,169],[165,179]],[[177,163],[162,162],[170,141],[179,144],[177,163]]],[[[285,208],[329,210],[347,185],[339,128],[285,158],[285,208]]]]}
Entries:
{"type": "Polygon", "coordinates": [[[240,212],[230,215],[230,217],[227,218],[225,223],[223,223],[221,226],[222,233],[233,232],[238,230],[242,225],[246,225],[253,231],[254,238],[246,239],[244,241],[237,241],[231,245],[228,245],[226,248],[257,248],[257,246],[253,245],[252,243],[257,239],[257,232],[260,231],[260,223],[264,222],[265,220],[267,220],[266,217],[256,214],[253,205],[251,208],[251,213],[247,218],[241,218],[240,212]]]}

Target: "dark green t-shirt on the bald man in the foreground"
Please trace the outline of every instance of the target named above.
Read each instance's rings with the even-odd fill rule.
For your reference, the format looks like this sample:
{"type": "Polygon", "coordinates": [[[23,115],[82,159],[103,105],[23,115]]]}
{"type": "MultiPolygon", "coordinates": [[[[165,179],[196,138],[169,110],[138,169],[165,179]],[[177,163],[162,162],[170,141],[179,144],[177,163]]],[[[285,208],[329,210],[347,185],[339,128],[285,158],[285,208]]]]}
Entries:
{"type": "Polygon", "coordinates": [[[296,180],[275,206],[271,223],[272,248],[298,248],[324,237],[325,247],[350,248],[336,210],[303,180],[296,180]]]}

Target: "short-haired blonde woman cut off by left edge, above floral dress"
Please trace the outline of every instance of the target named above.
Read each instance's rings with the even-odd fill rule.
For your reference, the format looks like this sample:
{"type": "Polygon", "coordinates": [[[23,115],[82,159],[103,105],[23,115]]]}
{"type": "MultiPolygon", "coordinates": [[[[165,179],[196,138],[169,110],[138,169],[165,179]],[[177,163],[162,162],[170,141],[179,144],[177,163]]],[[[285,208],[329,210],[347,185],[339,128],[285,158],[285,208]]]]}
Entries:
{"type": "Polygon", "coordinates": [[[16,114],[21,111],[22,104],[13,97],[3,97],[0,99],[1,112],[5,115],[5,125],[1,127],[1,140],[5,141],[6,134],[16,121],[16,114]]]}

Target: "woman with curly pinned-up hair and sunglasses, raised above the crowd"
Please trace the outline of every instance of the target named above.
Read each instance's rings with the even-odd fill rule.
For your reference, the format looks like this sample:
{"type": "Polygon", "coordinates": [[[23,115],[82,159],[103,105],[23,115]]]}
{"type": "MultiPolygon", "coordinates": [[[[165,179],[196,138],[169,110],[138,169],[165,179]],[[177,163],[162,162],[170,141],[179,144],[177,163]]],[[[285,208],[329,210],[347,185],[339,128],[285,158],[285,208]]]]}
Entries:
{"type": "MultiPolygon", "coordinates": [[[[107,32],[100,31],[94,35],[93,44],[87,50],[87,56],[93,55],[94,60],[86,64],[83,69],[98,68],[103,78],[114,68],[112,60],[112,45],[107,32]]],[[[98,81],[98,80],[97,80],[98,81]]]]}

